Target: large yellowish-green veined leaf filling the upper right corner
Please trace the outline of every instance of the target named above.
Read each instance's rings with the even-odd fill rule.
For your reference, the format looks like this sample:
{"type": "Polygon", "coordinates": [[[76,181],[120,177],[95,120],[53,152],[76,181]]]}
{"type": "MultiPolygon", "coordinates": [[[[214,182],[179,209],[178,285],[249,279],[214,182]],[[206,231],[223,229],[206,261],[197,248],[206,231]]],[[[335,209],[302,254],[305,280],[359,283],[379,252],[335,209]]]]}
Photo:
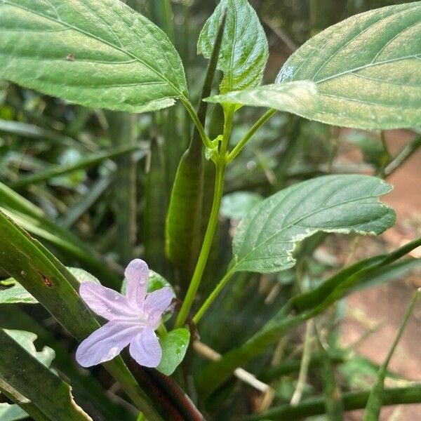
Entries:
{"type": "Polygon", "coordinates": [[[311,80],[319,106],[307,119],[367,129],[421,119],[421,2],[352,16],[307,41],[276,81],[311,80]]]}

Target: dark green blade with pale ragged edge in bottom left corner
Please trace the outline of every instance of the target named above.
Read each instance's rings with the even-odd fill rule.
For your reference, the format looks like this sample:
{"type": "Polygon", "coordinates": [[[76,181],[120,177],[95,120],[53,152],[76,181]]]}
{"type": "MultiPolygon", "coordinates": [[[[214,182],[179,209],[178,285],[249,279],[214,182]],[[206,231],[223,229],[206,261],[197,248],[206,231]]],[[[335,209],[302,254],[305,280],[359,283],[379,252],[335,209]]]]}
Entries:
{"type": "MultiPolygon", "coordinates": [[[[25,341],[28,339],[20,333],[12,338],[5,330],[0,329],[1,392],[27,410],[36,420],[44,417],[51,420],[91,420],[74,402],[69,385],[27,352],[21,342],[17,342],[22,338],[25,341]],[[19,363],[11,364],[11,361],[19,363]],[[30,410],[33,407],[38,416],[34,416],[30,410]],[[39,417],[39,413],[44,417],[39,417]]],[[[25,345],[27,342],[24,342],[25,345]]]]}

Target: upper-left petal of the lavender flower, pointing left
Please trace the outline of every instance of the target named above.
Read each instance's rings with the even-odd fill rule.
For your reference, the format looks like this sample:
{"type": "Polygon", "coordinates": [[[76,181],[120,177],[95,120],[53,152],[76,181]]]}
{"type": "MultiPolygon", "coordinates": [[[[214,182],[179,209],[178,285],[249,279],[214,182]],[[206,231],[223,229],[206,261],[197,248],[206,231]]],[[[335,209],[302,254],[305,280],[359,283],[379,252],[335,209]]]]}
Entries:
{"type": "Polygon", "coordinates": [[[127,318],[133,314],[124,295],[92,281],[82,282],[79,294],[88,307],[107,320],[127,318]]]}

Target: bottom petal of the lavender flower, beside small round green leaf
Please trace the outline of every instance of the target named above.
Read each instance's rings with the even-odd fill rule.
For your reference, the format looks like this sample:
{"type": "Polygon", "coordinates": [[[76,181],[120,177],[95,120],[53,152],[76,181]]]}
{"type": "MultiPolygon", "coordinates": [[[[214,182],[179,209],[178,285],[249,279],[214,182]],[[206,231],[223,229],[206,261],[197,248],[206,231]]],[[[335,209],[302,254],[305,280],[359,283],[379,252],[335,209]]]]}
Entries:
{"type": "Polygon", "coordinates": [[[150,326],[131,341],[129,351],[133,359],[145,367],[158,366],[162,358],[161,345],[150,326]]]}

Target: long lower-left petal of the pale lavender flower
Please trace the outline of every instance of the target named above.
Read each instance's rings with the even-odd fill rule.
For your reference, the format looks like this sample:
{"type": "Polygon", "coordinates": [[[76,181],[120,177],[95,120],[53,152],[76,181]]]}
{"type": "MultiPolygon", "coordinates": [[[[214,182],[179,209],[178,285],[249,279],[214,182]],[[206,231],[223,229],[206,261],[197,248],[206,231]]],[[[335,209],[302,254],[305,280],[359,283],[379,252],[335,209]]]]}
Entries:
{"type": "Polygon", "coordinates": [[[134,323],[109,321],[81,342],[76,350],[76,361],[83,367],[109,361],[120,354],[141,329],[134,323]]]}

